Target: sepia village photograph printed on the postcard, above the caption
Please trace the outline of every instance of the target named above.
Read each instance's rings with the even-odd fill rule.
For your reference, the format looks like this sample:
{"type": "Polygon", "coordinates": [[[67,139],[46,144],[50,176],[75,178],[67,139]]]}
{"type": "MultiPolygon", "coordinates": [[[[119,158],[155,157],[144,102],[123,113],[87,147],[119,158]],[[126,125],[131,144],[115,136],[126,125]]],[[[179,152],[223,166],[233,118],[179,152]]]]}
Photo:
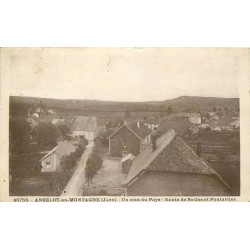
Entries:
{"type": "Polygon", "coordinates": [[[246,49],[8,55],[9,196],[240,196],[246,49]]]}

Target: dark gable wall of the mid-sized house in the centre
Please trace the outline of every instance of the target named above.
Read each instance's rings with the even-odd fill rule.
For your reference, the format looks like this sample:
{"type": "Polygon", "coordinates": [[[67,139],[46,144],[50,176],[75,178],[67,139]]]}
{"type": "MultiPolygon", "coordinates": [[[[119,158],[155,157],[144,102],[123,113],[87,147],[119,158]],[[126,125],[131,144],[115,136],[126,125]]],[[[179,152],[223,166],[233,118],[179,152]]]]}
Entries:
{"type": "Polygon", "coordinates": [[[128,154],[132,153],[135,156],[139,154],[141,140],[127,127],[123,126],[109,140],[109,153],[111,157],[122,157],[124,141],[126,141],[128,154]]]}

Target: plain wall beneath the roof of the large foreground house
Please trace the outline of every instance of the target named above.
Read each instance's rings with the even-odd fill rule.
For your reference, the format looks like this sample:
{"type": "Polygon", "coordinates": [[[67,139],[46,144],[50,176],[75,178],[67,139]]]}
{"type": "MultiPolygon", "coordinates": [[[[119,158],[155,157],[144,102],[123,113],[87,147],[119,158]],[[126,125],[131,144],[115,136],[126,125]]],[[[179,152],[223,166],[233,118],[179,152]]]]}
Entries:
{"type": "Polygon", "coordinates": [[[128,196],[224,196],[230,190],[215,175],[146,171],[131,186],[128,196]]]}

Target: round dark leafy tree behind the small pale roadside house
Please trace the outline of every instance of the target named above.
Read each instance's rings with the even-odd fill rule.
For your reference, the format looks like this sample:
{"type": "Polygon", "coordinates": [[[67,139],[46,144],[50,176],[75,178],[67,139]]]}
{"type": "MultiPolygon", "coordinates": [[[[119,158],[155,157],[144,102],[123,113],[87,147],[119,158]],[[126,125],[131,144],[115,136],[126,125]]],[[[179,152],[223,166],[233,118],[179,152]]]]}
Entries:
{"type": "Polygon", "coordinates": [[[33,137],[40,149],[47,149],[56,145],[59,133],[53,124],[41,122],[34,128],[33,137]]]}

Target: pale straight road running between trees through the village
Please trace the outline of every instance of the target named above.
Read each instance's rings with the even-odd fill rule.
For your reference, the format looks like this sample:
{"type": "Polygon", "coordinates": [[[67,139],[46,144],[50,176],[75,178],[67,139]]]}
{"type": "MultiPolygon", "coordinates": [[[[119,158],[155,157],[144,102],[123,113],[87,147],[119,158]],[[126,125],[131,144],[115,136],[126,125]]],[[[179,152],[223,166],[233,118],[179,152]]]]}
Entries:
{"type": "Polygon", "coordinates": [[[81,196],[82,195],[82,186],[85,182],[84,171],[86,167],[86,161],[89,155],[92,152],[94,146],[93,141],[89,141],[89,144],[86,146],[86,149],[78,162],[78,166],[69,182],[67,183],[65,189],[63,190],[61,196],[81,196]]]}

